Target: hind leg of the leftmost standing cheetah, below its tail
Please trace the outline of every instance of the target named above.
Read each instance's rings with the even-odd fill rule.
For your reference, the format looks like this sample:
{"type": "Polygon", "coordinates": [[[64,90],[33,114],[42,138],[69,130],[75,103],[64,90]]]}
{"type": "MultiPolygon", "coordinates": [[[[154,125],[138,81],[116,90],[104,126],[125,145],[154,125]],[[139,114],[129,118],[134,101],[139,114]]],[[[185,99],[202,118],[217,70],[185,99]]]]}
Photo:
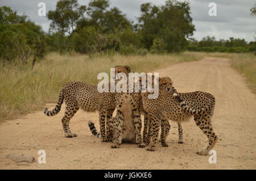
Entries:
{"type": "Polygon", "coordinates": [[[76,107],[75,105],[67,103],[66,110],[65,110],[65,113],[64,113],[64,117],[61,120],[61,123],[63,125],[63,130],[64,130],[64,133],[65,133],[65,137],[67,137],[67,138],[77,137],[77,134],[72,133],[70,128],[69,128],[69,121],[75,115],[77,110],[79,110],[78,107],[76,107]]]}

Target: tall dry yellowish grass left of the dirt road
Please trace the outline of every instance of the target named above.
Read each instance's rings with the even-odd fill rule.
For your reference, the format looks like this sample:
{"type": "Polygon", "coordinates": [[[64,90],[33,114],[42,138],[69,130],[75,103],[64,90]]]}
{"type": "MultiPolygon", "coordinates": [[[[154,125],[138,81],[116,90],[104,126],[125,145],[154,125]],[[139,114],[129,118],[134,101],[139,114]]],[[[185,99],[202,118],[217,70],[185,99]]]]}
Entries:
{"type": "Polygon", "coordinates": [[[37,63],[34,69],[20,62],[3,65],[0,62],[0,119],[42,110],[45,103],[56,103],[60,88],[70,81],[97,84],[97,74],[110,73],[115,65],[130,65],[133,72],[150,72],[157,68],[179,62],[196,61],[203,54],[147,54],[147,56],[112,56],[57,53],[48,54],[46,60],[37,63]]]}

